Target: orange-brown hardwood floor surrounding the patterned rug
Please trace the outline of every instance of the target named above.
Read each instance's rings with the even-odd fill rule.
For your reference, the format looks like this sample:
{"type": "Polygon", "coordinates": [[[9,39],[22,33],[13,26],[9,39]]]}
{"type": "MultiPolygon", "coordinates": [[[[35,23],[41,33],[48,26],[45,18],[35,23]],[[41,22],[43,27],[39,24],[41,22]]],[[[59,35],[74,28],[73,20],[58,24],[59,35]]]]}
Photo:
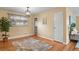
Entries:
{"type": "MultiPolygon", "coordinates": [[[[50,45],[52,45],[53,47],[50,48],[48,51],[79,51],[79,48],[75,48],[76,41],[70,41],[70,43],[68,45],[64,45],[57,41],[54,41],[54,40],[51,41],[51,40],[41,38],[38,36],[32,36],[32,38],[47,42],[50,45]]],[[[22,40],[22,39],[20,39],[20,40],[22,40]]],[[[16,48],[12,45],[13,41],[14,40],[8,40],[6,42],[0,41],[0,51],[16,51],[16,48]]]]}

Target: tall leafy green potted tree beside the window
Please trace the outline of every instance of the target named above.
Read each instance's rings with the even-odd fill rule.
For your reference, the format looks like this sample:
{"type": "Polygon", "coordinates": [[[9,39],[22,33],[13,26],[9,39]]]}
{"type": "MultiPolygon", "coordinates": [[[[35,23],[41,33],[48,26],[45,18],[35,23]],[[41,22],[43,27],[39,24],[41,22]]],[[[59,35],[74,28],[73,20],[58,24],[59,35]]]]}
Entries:
{"type": "Polygon", "coordinates": [[[3,41],[8,40],[8,32],[10,29],[10,21],[6,17],[1,17],[0,19],[0,30],[3,33],[3,41]]]}

